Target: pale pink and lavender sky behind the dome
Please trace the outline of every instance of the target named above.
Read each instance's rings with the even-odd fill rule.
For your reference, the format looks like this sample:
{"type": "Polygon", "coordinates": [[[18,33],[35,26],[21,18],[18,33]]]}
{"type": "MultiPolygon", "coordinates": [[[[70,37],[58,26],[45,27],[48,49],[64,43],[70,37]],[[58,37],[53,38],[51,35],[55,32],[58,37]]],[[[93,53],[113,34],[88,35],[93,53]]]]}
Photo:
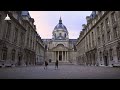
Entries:
{"type": "Polygon", "coordinates": [[[86,24],[86,16],[92,11],[29,11],[34,18],[37,32],[42,39],[52,39],[54,27],[61,17],[63,25],[69,32],[70,39],[77,39],[82,30],[82,24],[86,24]]]}

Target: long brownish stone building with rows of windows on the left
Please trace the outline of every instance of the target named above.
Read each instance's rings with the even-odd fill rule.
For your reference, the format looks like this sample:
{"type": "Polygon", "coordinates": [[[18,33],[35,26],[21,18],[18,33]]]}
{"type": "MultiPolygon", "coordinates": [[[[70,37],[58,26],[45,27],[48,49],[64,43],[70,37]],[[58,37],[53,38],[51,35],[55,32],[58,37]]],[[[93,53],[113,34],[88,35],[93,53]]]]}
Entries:
{"type": "Polygon", "coordinates": [[[0,11],[0,66],[35,65],[37,36],[28,11],[0,11]]]}

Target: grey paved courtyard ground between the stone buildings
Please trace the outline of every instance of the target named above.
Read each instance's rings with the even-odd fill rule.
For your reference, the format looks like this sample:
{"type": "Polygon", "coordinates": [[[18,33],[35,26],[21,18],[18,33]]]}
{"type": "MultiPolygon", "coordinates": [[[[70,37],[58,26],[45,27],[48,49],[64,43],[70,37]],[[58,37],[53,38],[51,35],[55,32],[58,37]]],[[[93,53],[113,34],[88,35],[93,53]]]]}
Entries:
{"type": "Polygon", "coordinates": [[[0,68],[0,79],[120,79],[120,68],[54,65],[0,68]]]}

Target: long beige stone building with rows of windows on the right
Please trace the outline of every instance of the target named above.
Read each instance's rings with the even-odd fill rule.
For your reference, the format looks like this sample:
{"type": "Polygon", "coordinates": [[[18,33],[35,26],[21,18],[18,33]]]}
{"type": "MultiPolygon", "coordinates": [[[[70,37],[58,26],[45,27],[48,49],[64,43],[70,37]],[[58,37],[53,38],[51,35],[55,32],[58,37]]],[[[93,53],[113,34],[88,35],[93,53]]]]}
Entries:
{"type": "Polygon", "coordinates": [[[120,11],[93,11],[76,48],[81,65],[120,66],[120,11]]]}

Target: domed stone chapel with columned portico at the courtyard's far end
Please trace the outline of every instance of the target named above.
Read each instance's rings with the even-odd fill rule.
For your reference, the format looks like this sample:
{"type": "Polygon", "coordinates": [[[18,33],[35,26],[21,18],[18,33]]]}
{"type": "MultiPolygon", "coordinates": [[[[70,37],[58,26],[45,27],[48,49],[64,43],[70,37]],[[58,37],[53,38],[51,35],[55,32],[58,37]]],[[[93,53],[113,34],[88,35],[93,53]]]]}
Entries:
{"type": "Polygon", "coordinates": [[[69,32],[60,18],[52,32],[52,39],[43,39],[45,43],[45,60],[60,63],[74,63],[76,61],[77,39],[69,39],[69,32]]]}

